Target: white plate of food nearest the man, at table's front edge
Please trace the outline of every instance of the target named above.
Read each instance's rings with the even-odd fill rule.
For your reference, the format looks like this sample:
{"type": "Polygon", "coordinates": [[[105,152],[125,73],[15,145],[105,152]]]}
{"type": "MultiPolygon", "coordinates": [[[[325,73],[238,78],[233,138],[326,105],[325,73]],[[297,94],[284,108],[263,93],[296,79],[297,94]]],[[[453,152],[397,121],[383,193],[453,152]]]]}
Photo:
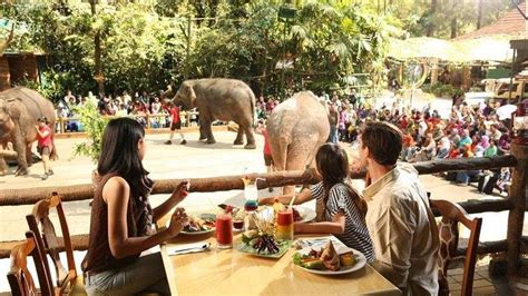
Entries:
{"type": "Polygon", "coordinates": [[[293,264],[299,268],[317,275],[342,275],[363,268],[365,256],[355,249],[346,248],[339,254],[331,240],[324,247],[305,247],[293,255],[293,264]]]}

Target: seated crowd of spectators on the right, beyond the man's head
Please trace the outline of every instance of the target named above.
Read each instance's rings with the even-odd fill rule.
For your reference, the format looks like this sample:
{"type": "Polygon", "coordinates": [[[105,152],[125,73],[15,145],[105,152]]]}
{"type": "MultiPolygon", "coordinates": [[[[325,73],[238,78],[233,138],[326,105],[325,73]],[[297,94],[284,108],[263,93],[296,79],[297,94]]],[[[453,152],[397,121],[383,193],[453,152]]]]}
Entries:
{"type": "MultiPolygon", "coordinates": [[[[427,105],[421,109],[400,107],[394,102],[373,108],[356,98],[355,93],[332,99],[321,97],[329,106],[331,130],[329,141],[353,142],[361,127],[370,120],[389,121],[403,134],[401,161],[414,162],[448,158],[492,157],[509,154],[510,118],[497,114],[500,103],[469,106],[462,101],[451,108],[449,118],[441,118],[438,110],[427,105]]],[[[511,169],[457,171],[444,175],[461,186],[478,181],[478,188],[487,194],[493,187],[506,194],[510,185],[511,169]]]]}

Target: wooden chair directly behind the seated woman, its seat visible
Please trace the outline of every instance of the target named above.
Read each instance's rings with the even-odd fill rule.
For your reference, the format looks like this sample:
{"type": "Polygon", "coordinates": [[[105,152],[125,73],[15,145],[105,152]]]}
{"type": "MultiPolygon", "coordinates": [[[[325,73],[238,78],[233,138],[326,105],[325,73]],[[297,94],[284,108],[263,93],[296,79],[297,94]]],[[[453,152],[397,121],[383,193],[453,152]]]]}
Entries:
{"type": "Polygon", "coordinates": [[[39,246],[41,257],[43,258],[42,265],[47,272],[46,277],[39,277],[40,285],[47,284],[53,295],[86,295],[82,276],[77,275],[70,233],[68,230],[60,196],[53,193],[50,198],[38,201],[33,206],[32,213],[26,216],[26,220],[28,221],[29,229],[35,233],[36,244],[39,246]],[[57,210],[59,217],[62,239],[57,237],[53,224],[49,218],[49,211],[52,208],[57,210]],[[60,262],[59,251],[62,248],[60,240],[63,241],[68,269],[66,269],[60,262]],[[57,285],[52,284],[47,255],[49,255],[53,262],[57,285]]]}

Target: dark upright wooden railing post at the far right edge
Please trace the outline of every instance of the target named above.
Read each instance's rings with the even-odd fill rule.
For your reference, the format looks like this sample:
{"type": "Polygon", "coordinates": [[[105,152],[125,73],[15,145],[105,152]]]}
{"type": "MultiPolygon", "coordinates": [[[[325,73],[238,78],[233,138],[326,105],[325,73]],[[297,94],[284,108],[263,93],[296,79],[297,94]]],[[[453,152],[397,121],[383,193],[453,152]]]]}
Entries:
{"type": "Polygon", "coordinates": [[[522,226],[525,223],[525,209],[528,184],[528,146],[512,142],[511,155],[517,159],[511,177],[509,198],[514,208],[508,216],[508,273],[516,275],[520,267],[520,244],[522,226]]]}

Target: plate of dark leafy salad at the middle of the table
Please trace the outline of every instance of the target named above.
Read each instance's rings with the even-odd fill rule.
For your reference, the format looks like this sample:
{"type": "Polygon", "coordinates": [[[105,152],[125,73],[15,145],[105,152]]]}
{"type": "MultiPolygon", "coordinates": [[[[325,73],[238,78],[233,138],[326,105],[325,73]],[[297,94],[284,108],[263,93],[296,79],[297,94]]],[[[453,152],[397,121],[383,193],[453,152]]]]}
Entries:
{"type": "Polygon", "coordinates": [[[291,245],[291,240],[277,240],[273,235],[258,230],[246,230],[242,234],[242,244],[237,249],[254,256],[278,259],[290,249],[291,245]]]}

